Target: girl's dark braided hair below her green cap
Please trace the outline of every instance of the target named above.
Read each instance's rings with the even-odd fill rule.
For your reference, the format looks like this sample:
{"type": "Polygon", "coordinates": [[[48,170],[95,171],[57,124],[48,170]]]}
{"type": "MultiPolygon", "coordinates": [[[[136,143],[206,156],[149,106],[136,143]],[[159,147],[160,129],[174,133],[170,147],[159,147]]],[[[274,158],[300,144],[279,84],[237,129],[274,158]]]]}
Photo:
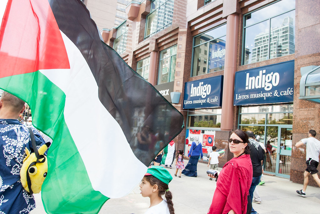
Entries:
{"type": "Polygon", "coordinates": [[[158,185],[159,196],[161,197],[163,194],[165,194],[165,199],[167,200],[170,214],[174,214],[172,194],[170,191],[166,192],[166,190],[169,189],[168,184],[163,183],[158,178],[156,178],[155,176],[152,176],[152,175],[147,175],[147,176],[145,176],[145,178],[146,178],[146,181],[148,181],[151,186],[153,186],[155,184],[158,185]]]}

